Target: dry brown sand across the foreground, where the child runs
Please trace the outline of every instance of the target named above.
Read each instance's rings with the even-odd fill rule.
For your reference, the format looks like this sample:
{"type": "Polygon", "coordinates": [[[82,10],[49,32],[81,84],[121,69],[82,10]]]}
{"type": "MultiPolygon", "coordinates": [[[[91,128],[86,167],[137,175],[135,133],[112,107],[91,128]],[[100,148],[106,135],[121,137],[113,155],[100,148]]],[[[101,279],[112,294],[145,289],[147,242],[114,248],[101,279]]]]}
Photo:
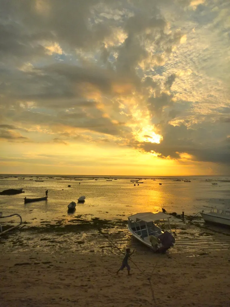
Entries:
{"type": "Polygon", "coordinates": [[[229,250],[154,255],[136,252],[131,276],[122,255],[9,253],[0,260],[1,307],[229,307],[229,250]],[[148,281],[151,271],[155,303],[148,281]]]}

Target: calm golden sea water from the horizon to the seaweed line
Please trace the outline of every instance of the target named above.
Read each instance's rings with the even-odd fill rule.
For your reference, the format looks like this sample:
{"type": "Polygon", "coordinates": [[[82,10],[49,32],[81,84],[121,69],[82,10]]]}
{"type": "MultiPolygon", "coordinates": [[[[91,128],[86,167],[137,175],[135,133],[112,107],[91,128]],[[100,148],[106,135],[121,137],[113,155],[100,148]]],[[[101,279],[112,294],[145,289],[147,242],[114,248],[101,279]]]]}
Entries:
{"type": "Polygon", "coordinates": [[[139,183],[139,186],[134,186],[130,181],[134,177],[128,176],[113,177],[117,180],[112,179],[112,181],[106,181],[102,176],[96,176],[97,180],[79,177],[77,179],[82,181],[75,181],[75,176],[37,175],[44,182],[36,182],[34,175],[17,175],[18,178],[25,177],[24,180],[18,180],[13,177],[15,175],[1,176],[1,191],[8,188],[23,188],[25,193],[12,196],[0,195],[0,211],[3,211],[4,215],[20,212],[23,220],[33,222],[35,225],[40,223],[40,219],[49,221],[61,217],[71,219],[72,216],[67,214],[67,205],[71,201],[77,203],[78,197],[82,195],[86,196],[86,201],[77,204],[74,215],[85,214],[89,219],[99,217],[125,220],[131,214],[161,211],[163,207],[167,212],[181,214],[184,211],[186,215],[209,210],[207,207],[213,206],[230,208],[230,177],[226,176],[154,177],[155,180],[151,177],[142,177],[143,183],[139,183]],[[182,181],[175,181],[178,178],[182,181]],[[185,179],[191,182],[184,182],[185,179]],[[67,187],[68,185],[71,187],[67,187]],[[47,201],[24,204],[25,196],[42,197],[46,189],[48,189],[47,201]]]}

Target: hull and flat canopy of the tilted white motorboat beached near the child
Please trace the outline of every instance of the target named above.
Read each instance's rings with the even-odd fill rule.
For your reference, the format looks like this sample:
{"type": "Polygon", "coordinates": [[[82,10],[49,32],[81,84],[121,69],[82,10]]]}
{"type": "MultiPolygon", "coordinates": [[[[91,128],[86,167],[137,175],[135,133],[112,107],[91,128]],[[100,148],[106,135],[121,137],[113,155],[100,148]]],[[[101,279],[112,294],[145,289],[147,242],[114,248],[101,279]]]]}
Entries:
{"type": "MultiPolygon", "coordinates": [[[[152,248],[152,243],[150,241],[151,236],[155,236],[156,238],[159,237],[159,235],[164,234],[164,232],[161,230],[160,223],[159,226],[155,225],[154,221],[160,221],[163,220],[163,226],[166,230],[166,223],[165,220],[167,220],[168,224],[168,235],[171,233],[171,227],[169,219],[171,216],[163,213],[152,213],[152,212],[142,212],[142,213],[136,213],[132,216],[128,216],[128,230],[131,232],[131,234],[138,239],[141,243],[144,243],[148,247],[152,248]]],[[[172,239],[172,245],[174,245],[175,239],[171,235],[172,239]]]]}

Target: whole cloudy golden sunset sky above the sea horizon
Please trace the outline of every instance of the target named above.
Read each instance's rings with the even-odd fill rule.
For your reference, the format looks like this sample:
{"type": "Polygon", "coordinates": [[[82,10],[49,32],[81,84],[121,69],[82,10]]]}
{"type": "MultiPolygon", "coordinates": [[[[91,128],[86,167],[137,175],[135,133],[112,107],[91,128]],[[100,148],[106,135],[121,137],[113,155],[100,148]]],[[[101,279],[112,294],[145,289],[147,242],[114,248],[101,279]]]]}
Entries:
{"type": "Polygon", "coordinates": [[[0,173],[230,174],[229,0],[1,0],[0,173]]]}

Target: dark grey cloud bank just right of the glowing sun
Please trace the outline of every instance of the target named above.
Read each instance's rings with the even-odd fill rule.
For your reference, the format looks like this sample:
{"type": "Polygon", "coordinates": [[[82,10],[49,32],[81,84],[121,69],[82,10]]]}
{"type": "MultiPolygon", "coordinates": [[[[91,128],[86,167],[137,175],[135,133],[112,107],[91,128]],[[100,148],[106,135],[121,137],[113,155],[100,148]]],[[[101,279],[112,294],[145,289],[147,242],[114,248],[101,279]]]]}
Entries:
{"type": "Polygon", "coordinates": [[[195,161],[230,164],[230,142],[222,131],[205,128],[192,129],[181,124],[177,126],[168,123],[158,125],[163,136],[160,144],[145,142],[142,148],[145,151],[155,151],[159,157],[180,158],[180,153],[188,153],[195,161]],[[218,137],[216,137],[218,135],[218,137]],[[222,136],[222,138],[221,138],[222,136]]]}

